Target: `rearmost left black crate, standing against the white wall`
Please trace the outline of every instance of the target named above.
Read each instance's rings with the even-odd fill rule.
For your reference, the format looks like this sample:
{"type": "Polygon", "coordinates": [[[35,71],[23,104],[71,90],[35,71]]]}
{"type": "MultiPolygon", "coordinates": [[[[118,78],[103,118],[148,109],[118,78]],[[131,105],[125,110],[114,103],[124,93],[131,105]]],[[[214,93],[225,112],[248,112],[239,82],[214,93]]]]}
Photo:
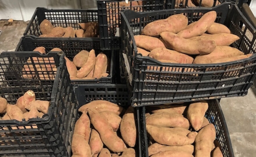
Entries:
{"type": "MultiPolygon", "coordinates": [[[[24,32],[24,36],[33,36],[43,39],[51,39],[45,37],[39,37],[42,33],[40,30],[40,23],[47,19],[54,27],[73,27],[74,29],[80,29],[78,23],[83,22],[98,22],[97,10],[85,10],[85,9],[47,9],[36,8],[35,12],[24,32]]],[[[61,39],[67,39],[62,38],[61,39]]],[[[54,38],[56,39],[56,38],[54,38]]],[[[74,38],[73,38],[74,39],[74,38]]],[[[85,38],[82,38],[85,39],[85,38]]],[[[98,38],[91,38],[98,39],[98,38]]]]}

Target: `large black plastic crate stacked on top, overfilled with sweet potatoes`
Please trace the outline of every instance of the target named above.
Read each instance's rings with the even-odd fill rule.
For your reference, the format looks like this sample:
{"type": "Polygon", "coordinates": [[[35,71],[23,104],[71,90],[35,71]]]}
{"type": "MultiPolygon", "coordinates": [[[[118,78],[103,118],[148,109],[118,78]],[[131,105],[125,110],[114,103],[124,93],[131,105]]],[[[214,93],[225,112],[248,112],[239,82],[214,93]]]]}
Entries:
{"type": "Polygon", "coordinates": [[[170,9],[145,13],[125,10],[121,15],[121,50],[124,52],[125,72],[131,71],[128,73],[129,78],[126,78],[128,85],[132,87],[133,106],[245,96],[248,93],[256,72],[256,30],[233,2],[225,2],[214,8],[170,9]],[[225,24],[233,34],[240,37],[232,46],[245,54],[254,54],[253,56],[218,64],[173,64],[137,55],[134,35],[140,34],[147,23],[179,13],[185,14],[191,23],[202,16],[199,13],[211,10],[217,12],[216,22],[225,24]],[[243,24],[243,28],[239,27],[243,24]],[[170,72],[162,70],[163,67],[170,72]]]}

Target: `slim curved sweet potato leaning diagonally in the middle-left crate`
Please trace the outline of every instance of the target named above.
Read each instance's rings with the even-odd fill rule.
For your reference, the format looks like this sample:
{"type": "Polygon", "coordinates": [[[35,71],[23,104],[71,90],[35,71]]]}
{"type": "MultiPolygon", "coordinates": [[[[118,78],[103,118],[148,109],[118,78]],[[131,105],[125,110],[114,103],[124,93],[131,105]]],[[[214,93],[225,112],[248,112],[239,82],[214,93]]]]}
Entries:
{"type": "Polygon", "coordinates": [[[93,69],[96,61],[95,51],[92,49],[89,52],[87,62],[77,71],[77,78],[83,78],[87,76],[93,69]]]}

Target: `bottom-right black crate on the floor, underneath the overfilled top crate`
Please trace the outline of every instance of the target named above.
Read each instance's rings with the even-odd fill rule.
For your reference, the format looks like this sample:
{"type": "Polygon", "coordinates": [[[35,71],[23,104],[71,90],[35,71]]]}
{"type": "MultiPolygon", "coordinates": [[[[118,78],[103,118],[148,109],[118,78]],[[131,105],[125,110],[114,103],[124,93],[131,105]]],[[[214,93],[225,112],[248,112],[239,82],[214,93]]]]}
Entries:
{"type": "MultiPolygon", "coordinates": [[[[212,123],[216,129],[216,140],[221,145],[221,151],[224,157],[234,157],[234,152],[232,149],[232,144],[229,136],[229,132],[227,129],[227,124],[219,104],[219,101],[216,100],[208,100],[209,108],[205,113],[205,117],[212,123]]],[[[189,104],[188,104],[189,105],[189,104]]],[[[141,145],[142,145],[142,157],[148,157],[148,138],[147,138],[147,130],[146,130],[146,120],[145,120],[145,113],[146,108],[143,107],[136,107],[139,108],[139,125],[141,127],[141,145]]]]}

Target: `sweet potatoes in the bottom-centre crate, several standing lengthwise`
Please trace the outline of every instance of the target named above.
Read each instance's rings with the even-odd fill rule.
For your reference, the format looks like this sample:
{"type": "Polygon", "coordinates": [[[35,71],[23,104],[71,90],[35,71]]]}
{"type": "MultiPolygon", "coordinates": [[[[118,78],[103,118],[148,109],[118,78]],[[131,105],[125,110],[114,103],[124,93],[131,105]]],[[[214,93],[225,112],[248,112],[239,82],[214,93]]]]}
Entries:
{"type": "Polygon", "coordinates": [[[104,100],[79,108],[72,136],[72,157],[135,157],[136,125],[134,109],[104,100]]]}

